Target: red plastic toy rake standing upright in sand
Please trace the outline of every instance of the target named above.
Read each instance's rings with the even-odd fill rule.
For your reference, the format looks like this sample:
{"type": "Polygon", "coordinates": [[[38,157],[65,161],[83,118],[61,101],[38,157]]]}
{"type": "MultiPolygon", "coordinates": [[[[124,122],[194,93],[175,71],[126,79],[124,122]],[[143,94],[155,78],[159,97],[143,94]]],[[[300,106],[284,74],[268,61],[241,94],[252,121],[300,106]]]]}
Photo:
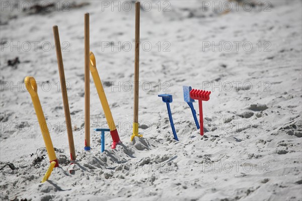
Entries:
{"type": "Polygon", "coordinates": [[[200,122],[200,135],[203,136],[203,115],[202,115],[202,100],[208,101],[210,99],[211,91],[192,89],[190,91],[190,97],[198,100],[199,104],[199,122],[200,122]]]}

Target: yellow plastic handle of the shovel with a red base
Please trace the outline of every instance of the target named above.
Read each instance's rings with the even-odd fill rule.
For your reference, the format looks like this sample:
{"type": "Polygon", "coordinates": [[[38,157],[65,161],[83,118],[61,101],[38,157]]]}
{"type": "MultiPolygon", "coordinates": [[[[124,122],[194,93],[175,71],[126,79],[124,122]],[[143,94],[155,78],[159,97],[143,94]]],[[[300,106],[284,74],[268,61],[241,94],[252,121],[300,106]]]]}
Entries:
{"type": "Polygon", "coordinates": [[[90,52],[90,72],[93,78],[93,81],[96,85],[98,94],[99,94],[99,98],[101,100],[101,104],[105,113],[105,117],[107,120],[107,124],[108,127],[110,129],[110,131],[114,131],[116,129],[113,118],[112,118],[112,114],[109,108],[109,104],[104,92],[104,88],[97,70],[97,64],[96,64],[96,57],[94,56],[94,54],[92,52],[90,52]]]}

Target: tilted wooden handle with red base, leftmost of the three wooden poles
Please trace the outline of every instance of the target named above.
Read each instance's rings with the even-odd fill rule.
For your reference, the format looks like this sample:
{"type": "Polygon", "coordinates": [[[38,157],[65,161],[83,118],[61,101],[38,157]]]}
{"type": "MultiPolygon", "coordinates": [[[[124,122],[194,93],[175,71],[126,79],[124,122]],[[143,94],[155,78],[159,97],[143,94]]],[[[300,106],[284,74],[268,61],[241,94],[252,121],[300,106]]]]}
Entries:
{"type": "Polygon", "coordinates": [[[53,29],[54,43],[55,43],[55,47],[56,47],[55,50],[56,50],[57,61],[58,61],[60,82],[61,82],[61,90],[62,90],[62,97],[63,97],[63,105],[64,105],[64,112],[65,112],[65,122],[66,122],[66,127],[67,127],[70,157],[71,157],[71,160],[75,160],[77,157],[75,156],[75,149],[74,149],[74,142],[73,142],[73,135],[72,135],[71,118],[70,118],[70,112],[69,112],[69,104],[68,104],[67,88],[66,88],[66,82],[65,82],[65,74],[64,74],[64,66],[63,66],[63,59],[62,59],[62,52],[61,52],[61,45],[60,45],[59,30],[56,25],[53,26],[52,29],[53,29]]]}

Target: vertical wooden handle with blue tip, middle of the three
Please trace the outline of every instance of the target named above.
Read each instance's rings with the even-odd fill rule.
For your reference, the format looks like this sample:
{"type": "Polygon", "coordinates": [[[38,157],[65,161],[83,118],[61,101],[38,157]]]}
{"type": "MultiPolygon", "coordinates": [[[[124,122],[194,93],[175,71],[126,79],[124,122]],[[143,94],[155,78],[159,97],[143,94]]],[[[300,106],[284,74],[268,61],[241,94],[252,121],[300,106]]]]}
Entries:
{"type": "Polygon", "coordinates": [[[89,58],[89,13],[84,17],[85,33],[85,146],[90,147],[90,58],[89,58]]]}

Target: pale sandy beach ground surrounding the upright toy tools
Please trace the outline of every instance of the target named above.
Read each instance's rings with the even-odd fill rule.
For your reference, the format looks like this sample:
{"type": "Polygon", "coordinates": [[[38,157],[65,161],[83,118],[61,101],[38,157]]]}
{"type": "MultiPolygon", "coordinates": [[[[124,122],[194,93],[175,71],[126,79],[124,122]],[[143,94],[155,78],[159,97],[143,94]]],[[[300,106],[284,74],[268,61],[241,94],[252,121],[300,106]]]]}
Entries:
{"type": "Polygon", "coordinates": [[[233,2],[233,9],[225,1],[218,8],[212,1],[142,1],[143,138],[134,142],[134,4],[120,2],[119,11],[111,1],[53,2],[54,8],[37,13],[22,7],[11,11],[4,2],[1,200],[302,200],[301,1],[255,1],[253,7],[233,2]],[[93,129],[107,125],[92,77],[92,150],[84,151],[86,12],[91,51],[123,142],[112,150],[106,134],[103,153],[100,133],[93,129]],[[77,151],[77,164],[71,166],[53,25],[59,27],[77,151]],[[8,65],[16,57],[20,63],[8,65]],[[60,163],[45,183],[40,181],[48,156],[24,86],[26,76],[38,81],[60,163]],[[183,100],[183,85],[212,91],[203,103],[203,137],[183,100]],[[173,140],[166,105],[158,97],[162,93],[173,95],[179,142],[173,140]]]}

